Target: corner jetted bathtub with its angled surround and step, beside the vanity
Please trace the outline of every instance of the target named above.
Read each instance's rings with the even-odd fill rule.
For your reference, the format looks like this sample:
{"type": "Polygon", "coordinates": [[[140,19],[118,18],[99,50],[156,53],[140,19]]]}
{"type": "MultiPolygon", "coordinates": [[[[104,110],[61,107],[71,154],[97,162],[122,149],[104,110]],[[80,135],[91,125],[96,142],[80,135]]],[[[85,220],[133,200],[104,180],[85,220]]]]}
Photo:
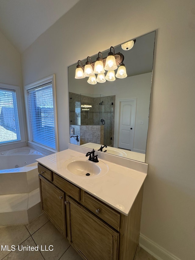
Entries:
{"type": "Polygon", "coordinates": [[[30,147],[0,151],[0,225],[29,223],[41,214],[35,161],[41,156],[30,147]]]}

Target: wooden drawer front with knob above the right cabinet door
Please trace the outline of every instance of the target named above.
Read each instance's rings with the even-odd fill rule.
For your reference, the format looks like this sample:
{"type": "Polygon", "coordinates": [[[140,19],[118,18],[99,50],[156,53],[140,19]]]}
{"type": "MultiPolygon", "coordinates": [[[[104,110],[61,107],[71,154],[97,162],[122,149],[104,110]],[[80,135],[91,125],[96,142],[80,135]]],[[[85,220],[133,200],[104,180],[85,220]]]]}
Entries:
{"type": "Polygon", "coordinates": [[[110,208],[108,205],[94,198],[87,192],[82,193],[82,204],[92,211],[99,218],[119,231],[120,213],[110,208]]]}

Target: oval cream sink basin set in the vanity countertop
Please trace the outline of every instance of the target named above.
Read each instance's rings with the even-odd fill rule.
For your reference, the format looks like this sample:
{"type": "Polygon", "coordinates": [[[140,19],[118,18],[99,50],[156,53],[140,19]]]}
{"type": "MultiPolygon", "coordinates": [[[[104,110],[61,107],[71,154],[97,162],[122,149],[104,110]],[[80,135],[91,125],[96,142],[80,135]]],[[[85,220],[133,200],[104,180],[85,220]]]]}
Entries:
{"type": "Polygon", "coordinates": [[[102,162],[91,162],[87,157],[74,157],[64,162],[66,170],[86,178],[98,177],[108,172],[108,166],[102,162]]]}

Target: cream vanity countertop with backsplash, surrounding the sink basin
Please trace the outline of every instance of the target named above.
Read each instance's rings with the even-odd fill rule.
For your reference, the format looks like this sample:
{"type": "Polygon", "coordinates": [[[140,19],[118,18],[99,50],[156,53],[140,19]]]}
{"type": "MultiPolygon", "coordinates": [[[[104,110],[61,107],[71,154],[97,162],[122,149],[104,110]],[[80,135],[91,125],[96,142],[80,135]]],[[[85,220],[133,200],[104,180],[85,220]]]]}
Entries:
{"type": "Polygon", "coordinates": [[[147,176],[148,165],[95,151],[98,159],[108,166],[106,174],[90,178],[76,176],[66,170],[66,160],[83,157],[87,151],[90,149],[69,144],[69,149],[38,158],[37,161],[127,216],[147,176]]]}

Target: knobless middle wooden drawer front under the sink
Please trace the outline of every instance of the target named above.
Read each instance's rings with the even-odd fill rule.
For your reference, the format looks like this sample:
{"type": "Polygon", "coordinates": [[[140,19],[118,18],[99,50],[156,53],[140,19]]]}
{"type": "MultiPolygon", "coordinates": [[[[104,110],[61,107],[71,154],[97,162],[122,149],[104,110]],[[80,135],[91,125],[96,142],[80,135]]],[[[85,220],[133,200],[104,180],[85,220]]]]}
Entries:
{"type": "Polygon", "coordinates": [[[63,179],[56,173],[53,174],[53,183],[58,186],[62,191],[66,192],[68,195],[74,198],[76,201],[80,201],[80,188],[63,179]]]}

